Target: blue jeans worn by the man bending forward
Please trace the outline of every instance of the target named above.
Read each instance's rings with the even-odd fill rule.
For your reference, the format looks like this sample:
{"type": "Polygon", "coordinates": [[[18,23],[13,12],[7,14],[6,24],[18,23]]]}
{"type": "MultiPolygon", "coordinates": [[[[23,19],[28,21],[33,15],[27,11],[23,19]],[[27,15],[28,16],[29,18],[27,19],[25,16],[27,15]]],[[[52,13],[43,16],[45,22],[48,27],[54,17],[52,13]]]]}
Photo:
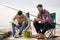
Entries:
{"type": "MultiPolygon", "coordinates": [[[[12,23],[12,33],[13,33],[13,36],[15,35],[16,31],[15,31],[15,27],[16,25],[14,23],[12,23]]],[[[22,31],[27,27],[27,22],[26,21],[23,21],[21,26],[19,26],[19,35],[22,34],[22,31]]]]}

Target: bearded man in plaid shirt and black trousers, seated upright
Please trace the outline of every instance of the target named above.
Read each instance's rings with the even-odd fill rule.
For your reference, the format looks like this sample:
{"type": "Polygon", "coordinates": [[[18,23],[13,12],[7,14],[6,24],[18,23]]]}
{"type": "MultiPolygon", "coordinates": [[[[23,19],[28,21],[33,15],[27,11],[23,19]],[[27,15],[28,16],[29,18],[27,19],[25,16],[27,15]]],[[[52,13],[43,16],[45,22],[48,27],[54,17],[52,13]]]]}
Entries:
{"type": "Polygon", "coordinates": [[[34,26],[37,32],[36,38],[44,38],[44,33],[51,24],[50,13],[43,9],[42,4],[37,5],[37,9],[39,13],[37,18],[34,18],[34,26]]]}

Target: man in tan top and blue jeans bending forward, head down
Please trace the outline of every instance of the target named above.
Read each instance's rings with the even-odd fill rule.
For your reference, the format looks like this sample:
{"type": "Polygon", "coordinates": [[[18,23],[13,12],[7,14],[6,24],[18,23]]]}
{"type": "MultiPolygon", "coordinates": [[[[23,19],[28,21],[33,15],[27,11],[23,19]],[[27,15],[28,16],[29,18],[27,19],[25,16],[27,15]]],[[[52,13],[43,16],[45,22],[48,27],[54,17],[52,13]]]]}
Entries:
{"type": "Polygon", "coordinates": [[[17,36],[15,36],[16,35],[15,27],[19,28],[18,35],[21,36],[22,31],[27,30],[30,26],[28,17],[26,17],[22,13],[22,11],[18,11],[16,16],[13,18],[13,22],[14,23],[12,23],[12,33],[13,33],[14,37],[17,37],[17,36]],[[15,20],[17,20],[18,22],[15,23],[15,20]]]}

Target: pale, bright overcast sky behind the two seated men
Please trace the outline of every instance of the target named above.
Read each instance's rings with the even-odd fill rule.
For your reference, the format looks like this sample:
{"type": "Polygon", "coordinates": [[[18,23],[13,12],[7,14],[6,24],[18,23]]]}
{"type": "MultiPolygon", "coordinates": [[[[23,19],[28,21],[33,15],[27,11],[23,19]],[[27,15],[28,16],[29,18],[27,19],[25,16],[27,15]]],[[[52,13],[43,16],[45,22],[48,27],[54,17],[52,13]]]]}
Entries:
{"type": "MultiPolygon", "coordinates": [[[[38,4],[43,4],[44,9],[48,10],[50,13],[56,12],[56,20],[57,23],[60,24],[60,0],[0,0],[0,26],[6,28],[5,26],[11,25],[9,22],[17,13],[16,10],[2,5],[37,15],[38,11],[36,6],[38,4]]],[[[31,16],[32,20],[33,18],[34,17],[31,16]]]]}

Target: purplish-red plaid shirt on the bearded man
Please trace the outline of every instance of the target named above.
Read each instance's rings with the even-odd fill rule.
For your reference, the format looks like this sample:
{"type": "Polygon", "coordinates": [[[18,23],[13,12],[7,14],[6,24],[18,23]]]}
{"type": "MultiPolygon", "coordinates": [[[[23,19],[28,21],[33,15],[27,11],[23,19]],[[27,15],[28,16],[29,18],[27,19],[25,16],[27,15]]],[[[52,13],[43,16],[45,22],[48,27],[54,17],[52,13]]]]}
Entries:
{"type": "Polygon", "coordinates": [[[51,23],[50,13],[44,9],[42,14],[38,14],[37,18],[45,20],[45,22],[51,23]]]}

